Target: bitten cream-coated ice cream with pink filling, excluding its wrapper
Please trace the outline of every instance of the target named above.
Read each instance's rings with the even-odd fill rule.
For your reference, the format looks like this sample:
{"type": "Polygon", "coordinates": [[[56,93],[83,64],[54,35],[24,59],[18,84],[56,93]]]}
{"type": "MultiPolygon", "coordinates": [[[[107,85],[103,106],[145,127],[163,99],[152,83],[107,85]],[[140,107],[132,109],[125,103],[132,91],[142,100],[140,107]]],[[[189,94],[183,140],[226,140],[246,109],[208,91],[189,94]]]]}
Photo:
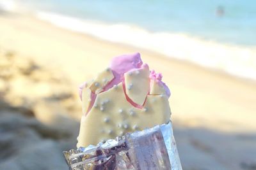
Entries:
{"type": "Polygon", "coordinates": [[[91,83],[79,87],[83,116],[77,148],[170,121],[170,90],[140,53],[115,57],[91,83]]]}

